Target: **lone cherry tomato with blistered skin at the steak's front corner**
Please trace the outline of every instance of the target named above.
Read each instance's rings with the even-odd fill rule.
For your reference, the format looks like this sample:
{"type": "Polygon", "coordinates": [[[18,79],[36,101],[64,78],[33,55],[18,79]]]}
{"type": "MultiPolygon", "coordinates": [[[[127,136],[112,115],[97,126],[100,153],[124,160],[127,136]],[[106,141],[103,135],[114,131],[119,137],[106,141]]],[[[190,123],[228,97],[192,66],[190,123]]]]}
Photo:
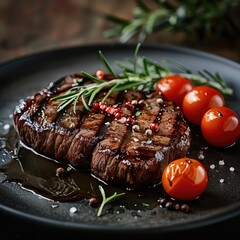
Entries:
{"type": "Polygon", "coordinates": [[[202,163],[192,158],[176,159],[162,174],[162,186],[176,200],[194,200],[205,192],[208,174],[202,163]]]}

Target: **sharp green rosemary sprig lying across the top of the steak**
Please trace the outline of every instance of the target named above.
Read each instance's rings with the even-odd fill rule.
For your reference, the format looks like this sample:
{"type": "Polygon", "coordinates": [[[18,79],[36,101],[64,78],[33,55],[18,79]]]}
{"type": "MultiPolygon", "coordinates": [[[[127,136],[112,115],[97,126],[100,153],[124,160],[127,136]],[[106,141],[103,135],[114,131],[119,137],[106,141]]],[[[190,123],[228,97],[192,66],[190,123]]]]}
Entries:
{"type": "Polygon", "coordinates": [[[230,96],[233,94],[233,90],[225,84],[218,73],[213,74],[207,70],[199,70],[197,73],[193,73],[190,69],[168,58],[163,59],[162,64],[159,64],[149,58],[139,56],[140,45],[140,43],[137,44],[133,58],[127,58],[125,62],[116,61],[116,65],[122,70],[118,75],[115,74],[110,63],[102,52],[99,51],[99,56],[113,76],[113,79],[99,79],[90,73],[82,71],[82,74],[92,80],[92,83],[82,84],[82,79],[78,79],[77,83],[69,90],[61,95],[53,97],[51,100],[60,101],[58,111],[61,111],[66,106],[73,103],[73,111],[76,112],[76,104],[79,98],[81,98],[84,107],[88,111],[91,111],[91,104],[98,93],[103,90],[107,89],[108,91],[102,99],[102,102],[113,92],[120,92],[128,89],[151,91],[161,78],[174,74],[187,77],[194,85],[213,86],[223,95],[230,96]],[[169,66],[178,69],[178,72],[172,72],[169,66]]]}

